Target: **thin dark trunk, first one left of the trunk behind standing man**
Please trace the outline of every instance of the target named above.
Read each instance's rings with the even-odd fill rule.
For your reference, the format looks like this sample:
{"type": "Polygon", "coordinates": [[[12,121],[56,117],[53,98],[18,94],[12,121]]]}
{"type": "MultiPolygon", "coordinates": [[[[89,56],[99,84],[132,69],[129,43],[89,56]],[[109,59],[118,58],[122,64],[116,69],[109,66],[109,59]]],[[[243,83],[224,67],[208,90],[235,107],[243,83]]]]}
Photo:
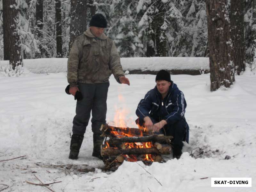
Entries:
{"type": "Polygon", "coordinates": [[[62,57],[61,2],[55,0],[57,58],[62,57]]]}

